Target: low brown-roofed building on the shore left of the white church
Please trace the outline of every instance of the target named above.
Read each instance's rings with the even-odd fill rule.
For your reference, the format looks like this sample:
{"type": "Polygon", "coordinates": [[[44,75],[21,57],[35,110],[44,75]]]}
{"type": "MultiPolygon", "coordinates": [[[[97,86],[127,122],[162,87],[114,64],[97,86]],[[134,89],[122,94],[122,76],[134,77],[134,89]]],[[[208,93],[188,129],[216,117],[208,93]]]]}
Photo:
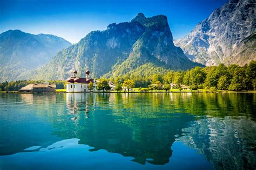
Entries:
{"type": "Polygon", "coordinates": [[[31,83],[19,89],[20,92],[26,93],[42,93],[42,92],[55,92],[55,84],[31,83]]]}

